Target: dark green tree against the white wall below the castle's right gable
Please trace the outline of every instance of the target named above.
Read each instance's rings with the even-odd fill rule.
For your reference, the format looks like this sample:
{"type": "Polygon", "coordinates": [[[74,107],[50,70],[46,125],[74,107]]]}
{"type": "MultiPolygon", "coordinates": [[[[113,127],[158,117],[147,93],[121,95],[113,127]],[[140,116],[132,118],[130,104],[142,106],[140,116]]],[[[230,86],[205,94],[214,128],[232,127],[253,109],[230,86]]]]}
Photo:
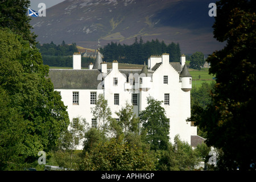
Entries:
{"type": "Polygon", "coordinates": [[[142,133],[146,133],[144,140],[150,143],[151,150],[166,150],[169,143],[169,119],[166,118],[162,102],[154,98],[147,98],[148,106],[139,113],[142,122],[142,133]]]}

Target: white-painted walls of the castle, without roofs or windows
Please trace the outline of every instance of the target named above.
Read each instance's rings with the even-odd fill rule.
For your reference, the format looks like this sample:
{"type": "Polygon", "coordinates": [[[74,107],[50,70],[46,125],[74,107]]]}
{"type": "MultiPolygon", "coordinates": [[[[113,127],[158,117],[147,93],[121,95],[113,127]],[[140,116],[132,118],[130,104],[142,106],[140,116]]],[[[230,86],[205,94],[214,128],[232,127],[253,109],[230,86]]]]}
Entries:
{"type": "MultiPolygon", "coordinates": [[[[196,127],[191,126],[190,122],[186,122],[186,119],[190,117],[191,114],[191,104],[190,104],[190,91],[184,92],[181,90],[181,82],[179,78],[179,73],[168,64],[167,55],[164,57],[164,65],[160,65],[158,69],[152,74],[151,77],[143,77],[145,81],[151,81],[148,85],[148,90],[139,89],[139,78],[135,77],[135,90],[125,89],[125,83],[127,78],[121,72],[118,71],[118,63],[114,64],[114,69],[112,69],[104,80],[105,90],[80,90],[80,89],[56,89],[61,92],[61,97],[64,105],[68,106],[69,119],[72,121],[73,118],[81,117],[85,118],[88,123],[91,124],[93,115],[91,113],[90,105],[90,92],[102,93],[105,99],[108,100],[108,106],[112,110],[112,117],[118,118],[115,112],[122,109],[125,106],[126,101],[130,104],[132,103],[132,93],[139,93],[139,105],[134,105],[134,114],[138,116],[139,111],[142,111],[147,106],[147,97],[152,96],[156,100],[164,101],[164,93],[170,94],[170,105],[162,105],[166,110],[167,118],[170,118],[170,138],[171,142],[174,143],[174,137],[176,134],[180,135],[182,140],[185,140],[189,144],[191,143],[191,135],[197,135],[196,127]],[[167,63],[167,64],[166,64],[167,63]],[[163,76],[168,76],[168,84],[163,83],[163,76]],[[118,84],[113,85],[113,78],[118,78],[118,84]],[[79,92],[79,105],[74,105],[73,92],[79,92]],[[119,94],[119,105],[114,105],[114,94],[119,94]]],[[[155,60],[159,60],[155,59],[155,60]]],[[[149,75],[151,76],[151,75],[149,75]]],[[[82,149],[80,146],[78,149],[82,149]]]]}

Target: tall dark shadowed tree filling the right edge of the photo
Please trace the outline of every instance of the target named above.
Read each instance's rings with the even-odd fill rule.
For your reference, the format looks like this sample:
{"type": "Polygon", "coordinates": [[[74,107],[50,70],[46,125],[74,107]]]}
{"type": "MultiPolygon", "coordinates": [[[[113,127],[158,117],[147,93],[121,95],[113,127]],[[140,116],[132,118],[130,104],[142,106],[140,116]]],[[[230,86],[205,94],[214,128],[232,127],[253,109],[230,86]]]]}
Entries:
{"type": "Polygon", "coordinates": [[[218,169],[249,170],[256,162],[256,2],[222,0],[216,5],[214,38],[226,46],[207,59],[209,73],[217,78],[212,104],[197,107],[191,121],[207,131],[208,146],[222,150],[218,169]]]}

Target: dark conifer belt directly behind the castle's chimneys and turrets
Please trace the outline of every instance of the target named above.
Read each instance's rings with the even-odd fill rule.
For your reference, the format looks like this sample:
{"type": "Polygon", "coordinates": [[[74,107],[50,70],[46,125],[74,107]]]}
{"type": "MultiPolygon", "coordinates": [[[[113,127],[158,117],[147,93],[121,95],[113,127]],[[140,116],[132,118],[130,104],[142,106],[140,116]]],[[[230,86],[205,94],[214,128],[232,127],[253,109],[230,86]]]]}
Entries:
{"type": "Polygon", "coordinates": [[[144,64],[151,55],[162,55],[162,53],[170,54],[170,62],[177,62],[180,60],[180,46],[179,43],[166,44],[164,41],[160,42],[158,39],[152,39],[151,42],[144,42],[142,38],[138,40],[135,37],[134,43],[131,45],[120,43],[108,43],[100,51],[104,55],[104,61],[117,60],[120,63],[130,64],[144,64]]]}

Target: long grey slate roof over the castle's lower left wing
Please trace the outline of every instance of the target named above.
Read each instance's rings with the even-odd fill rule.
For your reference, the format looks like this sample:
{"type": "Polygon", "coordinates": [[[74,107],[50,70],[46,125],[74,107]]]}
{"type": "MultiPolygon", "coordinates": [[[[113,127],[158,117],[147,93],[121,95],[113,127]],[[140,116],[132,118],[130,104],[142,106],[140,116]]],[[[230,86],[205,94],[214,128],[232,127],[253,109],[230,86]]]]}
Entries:
{"type": "Polygon", "coordinates": [[[97,89],[101,80],[97,69],[49,69],[54,89],[97,89]]]}

